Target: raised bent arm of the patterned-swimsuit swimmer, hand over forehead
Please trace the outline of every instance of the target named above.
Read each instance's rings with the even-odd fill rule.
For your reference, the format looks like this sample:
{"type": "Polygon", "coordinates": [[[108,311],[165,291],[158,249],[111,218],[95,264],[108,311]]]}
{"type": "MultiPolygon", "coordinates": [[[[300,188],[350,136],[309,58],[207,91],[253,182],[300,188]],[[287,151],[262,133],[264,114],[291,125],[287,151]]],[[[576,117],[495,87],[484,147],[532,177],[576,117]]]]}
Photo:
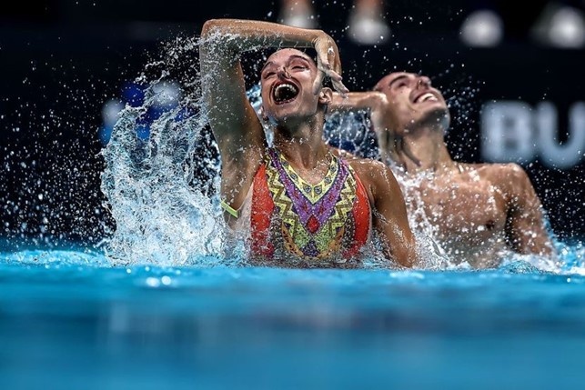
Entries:
{"type": "Polygon", "coordinates": [[[237,19],[205,23],[199,49],[203,97],[222,159],[222,196],[235,208],[244,201],[266,145],[262,125],[247,100],[239,61],[241,53],[257,47],[314,47],[316,87],[328,75],[338,90],[345,91],[338,75],[338,47],[320,30],[237,19]]]}

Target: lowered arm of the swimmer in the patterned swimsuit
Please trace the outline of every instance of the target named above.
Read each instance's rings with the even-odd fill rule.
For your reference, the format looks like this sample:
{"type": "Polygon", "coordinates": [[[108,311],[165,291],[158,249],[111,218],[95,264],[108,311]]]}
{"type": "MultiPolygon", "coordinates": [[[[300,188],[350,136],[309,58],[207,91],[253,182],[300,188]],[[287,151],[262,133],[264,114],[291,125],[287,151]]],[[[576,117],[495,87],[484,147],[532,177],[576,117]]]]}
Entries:
{"type": "Polygon", "coordinates": [[[408,225],[404,196],[392,171],[373,160],[353,162],[352,166],[369,187],[373,225],[382,238],[384,254],[399,265],[418,264],[417,244],[408,225]]]}

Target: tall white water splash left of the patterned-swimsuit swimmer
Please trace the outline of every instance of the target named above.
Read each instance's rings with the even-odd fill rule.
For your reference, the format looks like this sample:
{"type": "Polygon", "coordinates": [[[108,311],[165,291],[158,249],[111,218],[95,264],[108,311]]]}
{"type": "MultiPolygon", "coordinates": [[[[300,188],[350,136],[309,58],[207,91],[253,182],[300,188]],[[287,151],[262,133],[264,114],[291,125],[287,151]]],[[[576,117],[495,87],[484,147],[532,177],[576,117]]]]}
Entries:
{"type": "Polygon", "coordinates": [[[105,249],[114,264],[215,265],[231,258],[213,196],[217,146],[202,108],[197,47],[194,38],[177,38],[146,65],[136,79],[145,85],[144,101],[126,105],[103,150],[102,191],[116,219],[105,249]],[[174,77],[177,104],[148,117],[153,105],[172,100],[160,86],[174,77]],[[139,136],[145,125],[149,136],[139,136]]]}

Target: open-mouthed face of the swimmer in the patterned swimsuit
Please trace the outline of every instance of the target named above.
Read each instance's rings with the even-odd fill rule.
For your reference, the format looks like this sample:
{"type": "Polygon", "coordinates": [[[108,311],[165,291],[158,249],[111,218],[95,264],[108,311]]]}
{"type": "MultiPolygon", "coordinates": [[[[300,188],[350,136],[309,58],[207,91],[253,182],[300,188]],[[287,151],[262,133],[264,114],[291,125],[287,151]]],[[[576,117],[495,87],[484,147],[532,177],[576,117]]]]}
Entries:
{"type": "Polygon", "coordinates": [[[313,60],[296,49],[270,55],[260,75],[264,115],[277,123],[315,115],[319,96],[313,94],[313,83],[317,75],[313,60]]]}

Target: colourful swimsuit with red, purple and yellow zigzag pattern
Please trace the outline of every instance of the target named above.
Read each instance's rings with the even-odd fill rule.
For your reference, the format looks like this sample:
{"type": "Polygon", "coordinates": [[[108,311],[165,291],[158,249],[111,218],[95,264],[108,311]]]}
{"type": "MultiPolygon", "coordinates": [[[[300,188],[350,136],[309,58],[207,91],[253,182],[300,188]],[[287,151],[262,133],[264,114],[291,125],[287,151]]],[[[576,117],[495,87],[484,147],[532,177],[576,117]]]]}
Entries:
{"type": "Polygon", "coordinates": [[[309,185],[269,148],[254,178],[250,224],[253,255],[347,258],[368,241],[368,193],[348,163],[335,155],[323,180],[309,185]]]}

